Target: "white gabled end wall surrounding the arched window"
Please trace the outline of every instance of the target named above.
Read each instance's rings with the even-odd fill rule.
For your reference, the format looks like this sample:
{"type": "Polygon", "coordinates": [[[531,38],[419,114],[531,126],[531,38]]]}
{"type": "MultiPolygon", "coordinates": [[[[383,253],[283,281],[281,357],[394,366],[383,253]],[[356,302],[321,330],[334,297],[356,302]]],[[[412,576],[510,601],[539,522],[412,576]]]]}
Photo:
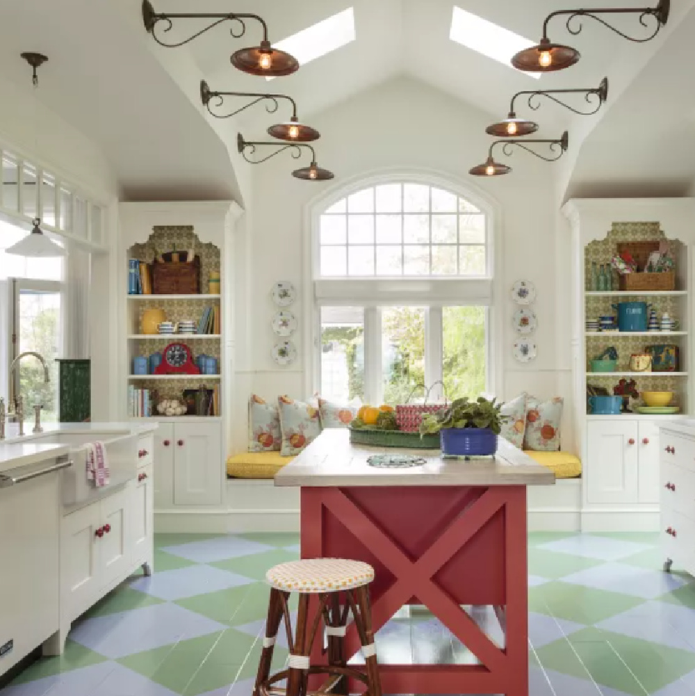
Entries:
{"type": "MultiPolygon", "coordinates": [[[[237,257],[243,264],[238,272],[246,278],[245,287],[237,286],[237,345],[244,342],[243,356],[237,352],[237,413],[243,412],[250,390],[269,399],[282,393],[307,396],[303,326],[294,335],[301,358],[288,368],[278,367],[271,358],[271,287],[278,280],[296,285],[300,299],[293,311],[303,324],[310,316],[302,299],[310,283],[310,269],[303,262],[307,208],[331,187],[386,168],[428,170],[497,201],[502,210],[497,273],[502,281],[496,306],[504,331],[495,349],[503,356],[501,395],[511,398],[528,390],[538,397],[569,397],[568,342],[559,335],[556,322],[558,314],[569,310],[566,276],[564,271],[556,274],[556,253],[563,259],[567,250],[556,250],[553,166],[518,151],[509,162],[515,171],[506,177],[482,180],[468,175],[468,169],[487,155],[488,122],[490,116],[477,109],[418,81],[398,78],[312,117],[322,136],[314,143],[319,165],[336,174],[328,188],[291,177],[292,169],[305,165],[288,154],[254,166],[253,219],[243,239],[245,254],[237,257]],[[511,328],[515,306],[509,290],[522,278],[532,280],[538,290],[538,358],[529,365],[520,365],[511,354],[516,333],[511,328]]],[[[564,228],[560,233],[565,235],[564,228]]],[[[239,424],[232,443],[237,451],[246,444],[243,429],[239,424]]],[[[573,446],[569,432],[564,444],[573,446]]]]}

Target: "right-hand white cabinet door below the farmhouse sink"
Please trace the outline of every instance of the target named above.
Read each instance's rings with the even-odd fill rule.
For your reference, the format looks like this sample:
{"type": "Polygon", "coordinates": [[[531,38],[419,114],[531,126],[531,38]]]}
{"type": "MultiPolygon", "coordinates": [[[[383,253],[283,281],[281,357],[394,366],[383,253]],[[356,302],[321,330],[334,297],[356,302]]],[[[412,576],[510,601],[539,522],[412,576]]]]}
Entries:
{"type": "Polygon", "coordinates": [[[97,537],[102,566],[102,587],[125,578],[131,562],[131,537],[129,536],[129,509],[127,489],[113,493],[101,502],[99,524],[104,530],[97,537]]]}

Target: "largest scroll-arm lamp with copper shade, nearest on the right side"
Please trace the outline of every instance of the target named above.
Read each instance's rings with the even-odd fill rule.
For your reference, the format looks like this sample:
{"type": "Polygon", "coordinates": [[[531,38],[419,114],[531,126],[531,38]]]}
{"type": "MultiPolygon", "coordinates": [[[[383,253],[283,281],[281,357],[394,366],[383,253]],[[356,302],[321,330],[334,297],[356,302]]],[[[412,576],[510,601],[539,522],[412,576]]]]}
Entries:
{"type": "Polygon", "coordinates": [[[646,41],[652,40],[657,33],[659,33],[662,26],[666,24],[669,20],[669,12],[671,10],[671,0],[659,0],[656,7],[648,8],[587,8],[585,10],[557,10],[551,12],[548,17],[545,17],[543,22],[543,38],[541,42],[537,45],[524,49],[518,52],[511,58],[511,64],[517,70],[523,70],[524,72],[554,72],[555,70],[564,70],[569,68],[570,65],[574,65],[580,59],[580,52],[571,46],[565,46],[563,44],[551,42],[548,38],[548,22],[552,17],[557,17],[559,15],[568,15],[567,22],[565,26],[570,34],[577,35],[582,31],[582,17],[589,17],[590,19],[596,19],[597,22],[603,24],[607,29],[610,29],[618,36],[622,36],[628,41],[634,43],[644,43],[646,41]],[[651,17],[656,21],[656,26],[654,31],[644,37],[644,38],[634,38],[623,33],[616,27],[612,26],[605,19],[601,19],[598,15],[639,15],[639,23],[641,26],[648,26],[646,23],[646,18],[651,17]],[[572,25],[573,19],[579,17],[577,26],[572,25]]]}

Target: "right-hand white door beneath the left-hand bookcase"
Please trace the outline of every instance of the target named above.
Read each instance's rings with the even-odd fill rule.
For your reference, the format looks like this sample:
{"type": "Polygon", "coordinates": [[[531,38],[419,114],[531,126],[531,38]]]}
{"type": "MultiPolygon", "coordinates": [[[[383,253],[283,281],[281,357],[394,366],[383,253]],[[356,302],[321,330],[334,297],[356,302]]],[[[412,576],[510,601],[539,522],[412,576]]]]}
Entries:
{"type": "Polygon", "coordinates": [[[175,423],[175,505],[222,502],[221,432],[219,422],[175,423]]]}

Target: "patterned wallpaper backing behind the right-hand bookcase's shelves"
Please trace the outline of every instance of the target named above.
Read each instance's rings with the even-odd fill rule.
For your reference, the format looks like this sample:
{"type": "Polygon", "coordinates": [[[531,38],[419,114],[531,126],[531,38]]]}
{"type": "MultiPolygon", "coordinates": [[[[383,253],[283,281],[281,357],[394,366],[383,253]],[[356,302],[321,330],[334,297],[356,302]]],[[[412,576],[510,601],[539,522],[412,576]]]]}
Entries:
{"type": "MultiPolygon", "coordinates": [[[[596,262],[597,267],[601,264],[607,264],[611,258],[617,253],[618,242],[646,242],[666,239],[664,232],[660,230],[657,222],[639,222],[639,223],[614,223],[612,230],[608,233],[605,239],[591,242],[586,246],[584,255],[584,278],[586,279],[586,290],[591,290],[591,263],[596,262]]],[[[684,245],[678,240],[666,239],[669,245],[669,252],[676,258],[678,264],[681,258],[681,251],[684,245]]],[[[618,278],[613,271],[613,287],[617,287],[618,278]]],[[[630,297],[630,299],[637,299],[630,297]]],[[[612,303],[617,303],[618,297],[592,297],[587,296],[586,303],[586,319],[598,319],[602,315],[611,315],[617,317],[617,310],[612,307],[612,303]]],[[[679,322],[685,319],[685,311],[687,308],[687,298],[683,297],[654,297],[650,300],[650,310],[655,309],[657,316],[661,317],[664,312],[668,312],[673,319],[679,322]]],[[[630,367],[630,355],[633,353],[644,352],[645,346],[660,345],[660,344],[675,344],[680,348],[679,370],[685,370],[683,365],[687,365],[684,352],[684,341],[679,336],[661,336],[655,333],[653,336],[630,336],[621,333],[619,336],[612,333],[596,333],[586,337],[586,370],[589,372],[591,366],[589,361],[592,358],[597,358],[607,347],[614,346],[618,351],[617,372],[628,372],[630,367]]],[[[593,373],[587,375],[586,383],[594,386],[605,387],[610,393],[613,393],[613,387],[618,383],[620,377],[616,377],[611,373],[593,373]]],[[[673,377],[664,372],[659,377],[634,377],[637,383],[637,390],[650,391],[672,391],[675,393],[673,397],[673,406],[687,407],[685,404],[685,377],[673,377]]],[[[641,399],[630,400],[632,406],[642,405],[641,399]]]]}

